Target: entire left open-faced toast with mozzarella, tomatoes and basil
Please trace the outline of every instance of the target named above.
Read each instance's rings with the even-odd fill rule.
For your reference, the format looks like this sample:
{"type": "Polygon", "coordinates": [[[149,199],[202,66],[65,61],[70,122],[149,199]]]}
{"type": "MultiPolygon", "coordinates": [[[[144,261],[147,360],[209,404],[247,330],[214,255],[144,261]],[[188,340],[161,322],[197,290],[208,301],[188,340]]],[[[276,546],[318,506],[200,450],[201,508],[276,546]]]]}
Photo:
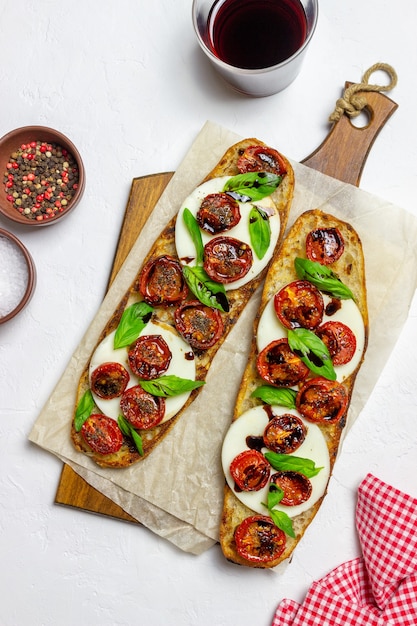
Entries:
{"type": "Polygon", "coordinates": [[[72,440],[103,467],[145,458],[201,386],[286,228],[289,161],[233,145],[151,247],[81,375],[72,440]]]}

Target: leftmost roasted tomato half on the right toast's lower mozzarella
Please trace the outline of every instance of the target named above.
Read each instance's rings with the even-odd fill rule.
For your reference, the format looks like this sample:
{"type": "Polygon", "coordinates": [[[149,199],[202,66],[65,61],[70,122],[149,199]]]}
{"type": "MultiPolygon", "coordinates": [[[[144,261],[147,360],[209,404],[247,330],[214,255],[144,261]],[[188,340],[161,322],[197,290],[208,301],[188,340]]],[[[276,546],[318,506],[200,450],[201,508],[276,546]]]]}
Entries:
{"type": "Polygon", "coordinates": [[[270,465],[257,450],[244,450],[230,464],[230,473],[239,491],[259,491],[269,480],[270,465]]]}

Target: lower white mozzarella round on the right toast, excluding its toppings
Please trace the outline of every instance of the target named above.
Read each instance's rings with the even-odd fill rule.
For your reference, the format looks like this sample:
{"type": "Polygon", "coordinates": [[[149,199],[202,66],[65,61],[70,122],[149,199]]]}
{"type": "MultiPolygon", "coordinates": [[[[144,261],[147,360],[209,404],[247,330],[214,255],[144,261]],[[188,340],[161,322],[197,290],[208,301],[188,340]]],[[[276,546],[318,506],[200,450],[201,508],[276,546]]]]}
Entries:
{"type": "MultiPolygon", "coordinates": [[[[293,456],[310,459],[315,462],[316,467],[323,468],[317,476],[309,479],[313,490],[306,502],[298,506],[283,506],[279,504],[275,507],[277,510],[285,511],[289,517],[295,517],[307,511],[324,495],[330,476],[329,452],[321,430],[316,424],[310,424],[295,410],[290,411],[280,406],[272,406],[271,408],[274,415],[291,413],[304,422],[307,427],[307,435],[298,450],[293,453],[293,456]]],[[[223,472],[230,489],[243,504],[255,513],[263,515],[268,515],[268,509],[262,503],[267,502],[269,483],[259,491],[236,491],[235,483],[230,473],[230,464],[238,454],[249,449],[246,444],[248,436],[262,436],[268,421],[268,414],[262,406],[249,409],[231,424],[222,448],[223,472]]],[[[267,448],[263,448],[262,452],[267,452],[267,448]]],[[[276,471],[271,467],[271,475],[276,471]]]]}

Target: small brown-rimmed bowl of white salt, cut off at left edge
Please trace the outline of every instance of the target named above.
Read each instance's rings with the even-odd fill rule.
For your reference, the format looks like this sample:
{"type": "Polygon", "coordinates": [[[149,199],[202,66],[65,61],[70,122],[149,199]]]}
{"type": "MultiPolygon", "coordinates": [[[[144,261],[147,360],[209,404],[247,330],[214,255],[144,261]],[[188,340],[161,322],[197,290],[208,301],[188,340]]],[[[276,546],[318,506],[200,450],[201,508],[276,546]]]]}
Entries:
{"type": "Polygon", "coordinates": [[[23,243],[0,228],[0,324],[18,315],[36,285],[35,264],[23,243]]]}

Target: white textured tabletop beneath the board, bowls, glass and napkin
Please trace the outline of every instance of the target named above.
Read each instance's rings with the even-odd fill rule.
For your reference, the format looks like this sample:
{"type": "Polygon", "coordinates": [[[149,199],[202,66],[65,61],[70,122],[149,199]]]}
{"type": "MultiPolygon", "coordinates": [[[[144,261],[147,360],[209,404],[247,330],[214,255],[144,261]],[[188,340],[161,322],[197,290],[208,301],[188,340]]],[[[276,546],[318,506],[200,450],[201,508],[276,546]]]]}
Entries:
{"type": "Polygon", "coordinates": [[[191,556],[140,526],[55,505],[61,462],[27,436],[103,298],[132,179],[175,170],[206,120],[302,160],[327,135],[344,81],[390,63],[399,108],[361,188],[417,215],[417,4],[321,0],[301,74],[263,99],[214,75],[191,0],[0,0],[0,15],[0,134],[52,126],[87,170],[62,223],[28,230],[0,219],[38,270],[29,307],[0,326],[0,623],[269,626],[282,598],[302,600],[359,555],[354,507],[368,472],[417,496],[417,305],[282,576],[228,564],[218,546],[191,556]]]}

